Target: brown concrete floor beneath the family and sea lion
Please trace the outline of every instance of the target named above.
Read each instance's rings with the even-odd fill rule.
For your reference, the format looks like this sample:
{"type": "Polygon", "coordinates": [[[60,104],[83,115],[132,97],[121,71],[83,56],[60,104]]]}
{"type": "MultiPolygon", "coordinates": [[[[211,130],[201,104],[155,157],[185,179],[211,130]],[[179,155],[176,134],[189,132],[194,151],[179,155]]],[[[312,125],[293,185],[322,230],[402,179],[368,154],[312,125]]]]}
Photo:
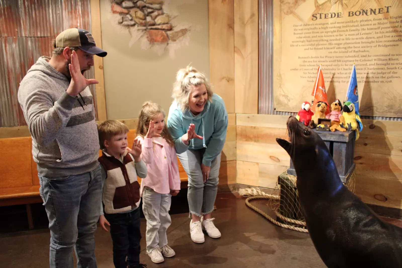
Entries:
{"type": "MultiPolygon", "coordinates": [[[[184,198],[184,197],[183,197],[184,198]]],[[[165,258],[154,264],[145,252],[146,221],[141,220],[143,239],[140,260],[148,268],[154,267],[298,267],[325,268],[308,233],[291,231],[273,225],[255,211],[246,207],[245,198],[236,193],[220,193],[217,210],[213,213],[215,225],[222,237],[212,239],[205,235],[205,243],[195,244],[189,233],[188,213],[172,215],[168,229],[169,245],[174,258],[165,258]]],[[[254,204],[264,211],[267,200],[254,204]]],[[[186,204],[187,205],[187,204],[186,204]]],[[[394,223],[401,225],[400,221],[394,223]]],[[[49,230],[46,227],[30,231],[0,233],[1,267],[49,267],[49,230]]],[[[109,233],[98,228],[95,234],[98,268],[112,268],[112,241],[109,233]]]]}

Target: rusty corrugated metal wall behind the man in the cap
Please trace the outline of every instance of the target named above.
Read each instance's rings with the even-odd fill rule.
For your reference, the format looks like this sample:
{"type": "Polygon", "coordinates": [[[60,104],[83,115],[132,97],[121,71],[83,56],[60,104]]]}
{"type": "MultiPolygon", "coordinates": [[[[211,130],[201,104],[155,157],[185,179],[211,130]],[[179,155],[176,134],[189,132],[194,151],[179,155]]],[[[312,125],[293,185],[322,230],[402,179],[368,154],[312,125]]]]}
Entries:
{"type": "MultiPolygon", "coordinates": [[[[52,55],[52,40],[74,27],[91,31],[90,0],[0,0],[0,127],[27,125],[19,83],[40,56],[52,55]]],[[[94,78],[93,68],[85,76],[94,78]]]]}

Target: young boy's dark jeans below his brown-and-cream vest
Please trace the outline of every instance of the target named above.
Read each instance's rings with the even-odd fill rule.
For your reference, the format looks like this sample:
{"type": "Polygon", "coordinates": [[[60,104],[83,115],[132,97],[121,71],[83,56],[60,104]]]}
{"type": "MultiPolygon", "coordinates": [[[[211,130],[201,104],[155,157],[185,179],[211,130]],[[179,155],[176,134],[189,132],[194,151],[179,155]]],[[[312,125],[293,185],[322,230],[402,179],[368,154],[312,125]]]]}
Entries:
{"type": "Polygon", "coordinates": [[[113,240],[113,263],[116,268],[137,267],[141,251],[139,209],[128,213],[106,214],[113,240]],[[127,261],[126,261],[127,257],[127,261]]]}

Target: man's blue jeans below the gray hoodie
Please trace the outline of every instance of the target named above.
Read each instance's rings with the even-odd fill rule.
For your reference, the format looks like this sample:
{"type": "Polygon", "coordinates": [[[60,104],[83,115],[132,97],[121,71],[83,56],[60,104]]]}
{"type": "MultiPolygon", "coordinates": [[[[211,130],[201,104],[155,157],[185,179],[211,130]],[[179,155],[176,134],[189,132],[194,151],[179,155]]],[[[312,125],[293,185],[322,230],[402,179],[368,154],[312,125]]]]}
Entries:
{"type": "Polygon", "coordinates": [[[39,176],[50,229],[50,268],[96,268],[94,232],[102,196],[100,166],[63,177],[39,176]]]}

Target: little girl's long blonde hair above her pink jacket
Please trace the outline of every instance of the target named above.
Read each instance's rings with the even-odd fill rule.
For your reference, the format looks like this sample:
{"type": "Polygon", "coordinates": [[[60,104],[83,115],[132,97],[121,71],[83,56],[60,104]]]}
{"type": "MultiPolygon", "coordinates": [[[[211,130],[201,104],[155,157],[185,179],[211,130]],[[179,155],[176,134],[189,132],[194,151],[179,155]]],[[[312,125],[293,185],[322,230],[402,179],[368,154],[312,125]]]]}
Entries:
{"type": "MultiPolygon", "coordinates": [[[[138,116],[137,135],[144,138],[147,135],[150,121],[158,114],[162,114],[163,118],[166,117],[165,111],[163,110],[162,106],[150,101],[144,102],[138,116]]],[[[174,146],[174,141],[172,139],[172,136],[170,136],[166,122],[165,127],[163,128],[160,135],[162,136],[162,138],[166,139],[167,143],[170,146],[174,146]]]]}

